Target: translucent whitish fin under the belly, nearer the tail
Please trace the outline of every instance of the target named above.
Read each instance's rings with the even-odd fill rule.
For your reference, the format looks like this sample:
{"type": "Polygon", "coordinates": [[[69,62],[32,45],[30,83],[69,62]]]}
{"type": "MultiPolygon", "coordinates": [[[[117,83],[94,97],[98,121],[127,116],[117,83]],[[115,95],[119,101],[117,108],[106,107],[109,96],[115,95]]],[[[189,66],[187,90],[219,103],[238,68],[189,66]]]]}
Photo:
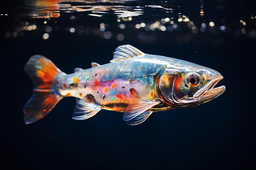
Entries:
{"type": "Polygon", "coordinates": [[[86,98],[82,98],[76,104],[76,108],[74,109],[72,119],[88,119],[96,115],[99,112],[99,110],[101,110],[101,107],[99,105],[93,102],[89,102],[86,98]]]}

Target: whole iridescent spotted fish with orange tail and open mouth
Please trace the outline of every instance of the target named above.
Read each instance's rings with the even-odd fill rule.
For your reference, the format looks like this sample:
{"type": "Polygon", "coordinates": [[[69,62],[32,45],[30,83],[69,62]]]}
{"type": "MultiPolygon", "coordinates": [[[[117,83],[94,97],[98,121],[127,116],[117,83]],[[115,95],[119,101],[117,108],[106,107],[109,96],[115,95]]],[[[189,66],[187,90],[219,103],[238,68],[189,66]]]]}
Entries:
{"type": "Polygon", "coordinates": [[[126,124],[137,125],[155,112],[209,102],[226,89],[215,87],[223,76],[211,68],[146,54],[131,45],[117,47],[108,64],[92,62],[92,68],[75,68],[72,74],[34,55],[25,72],[34,84],[23,109],[25,124],[45,117],[63,97],[75,97],[73,119],[88,119],[106,109],[124,113],[126,124]]]}

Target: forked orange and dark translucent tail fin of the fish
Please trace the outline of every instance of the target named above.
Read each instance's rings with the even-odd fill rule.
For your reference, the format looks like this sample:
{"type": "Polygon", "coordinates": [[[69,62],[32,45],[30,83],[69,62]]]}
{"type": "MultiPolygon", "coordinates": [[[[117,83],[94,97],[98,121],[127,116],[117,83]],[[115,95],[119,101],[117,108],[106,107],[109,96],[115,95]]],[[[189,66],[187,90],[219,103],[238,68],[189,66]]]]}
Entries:
{"type": "Polygon", "coordinates": [[[29,59],[25,72],[34,83],[33,95],[23,109],[25,123],[31,124],[45,117],[62,99],[53,84],[56,75],[63,72],[41,55],[34,55],[29,59]]]}

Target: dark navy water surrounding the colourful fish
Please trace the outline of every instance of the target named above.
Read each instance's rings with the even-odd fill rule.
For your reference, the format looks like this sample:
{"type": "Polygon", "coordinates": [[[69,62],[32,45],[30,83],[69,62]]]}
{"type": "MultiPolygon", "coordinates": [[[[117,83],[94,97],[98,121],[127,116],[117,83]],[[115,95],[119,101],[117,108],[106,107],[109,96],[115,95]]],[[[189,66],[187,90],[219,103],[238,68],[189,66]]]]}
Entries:
{"type": "Polygon", "coordinates": [[[111,9],[108,14],[94,13],[101,17],[88,15],[92,11],[60,10],[53,12],[55,17],[59,13],[57,18],[47,17],[52,11],[31,18],[29,14],[38,11],[31,4],[28,7],[26,1],[1,3],[3,169],[256,168],[254,0],[89,4],[140,6],[143,15],[132,16],[131,21],[129,16],[118,18],[111,9]],[[146,5],[161,5],[165,9],[146,5]],[[193,28],[187,22],[178,22],[179,15],[193,21],[193,28]],[[152,31],[147,26],[135,28],[141,22],[161,24],[162,18],[173,18],[178,27],[175,29],[168,21],[163,24],[165,31],[152,31]],[[211,21],[215,24],[212,28],[211,21]],[[105,24],[105,31],[99,30],[101,23],[105,24]],[[207,25],[204,32],[200,30],[202,23],[207,25]],[[33,25],[36,29],[29,31],[35,27],[28,26],[33,25]],[[226,29],[221,30],[223,25],[222,29],[226,29]],[[46,40],[45,33],[49,35],[46,40]],[[200,106],[154,113],[138,126],[126,125],[122,113],[108,110],[83,121],[71,119],[76,105],[72,97],[62,99],[42,120],[24,124],[22,108],[33,88],[24,72],[29,57],[44,55],[61,71],[73,73],[76,67],[90,68],[91,62],[108,63],[115,48],[122,44],[135,46],[144,53],[213,68],[224,76],[217,86],[225,85],[226,91],[200,106]]]}

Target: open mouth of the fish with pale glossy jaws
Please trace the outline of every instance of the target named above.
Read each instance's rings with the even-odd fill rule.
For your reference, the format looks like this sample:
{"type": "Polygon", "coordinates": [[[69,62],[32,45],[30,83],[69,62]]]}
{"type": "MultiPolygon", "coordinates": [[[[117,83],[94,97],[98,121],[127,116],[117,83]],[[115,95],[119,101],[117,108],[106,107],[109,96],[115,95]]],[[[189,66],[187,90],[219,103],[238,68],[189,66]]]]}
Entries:
{"type": "Polygon", "coordinates": [[[219,95],[221,95],[225,91],[226,87],[220,86],[220,87],[214,88],[214,86],[216,86],[216,84],[221,79],[223,79],[222,76],[220,76],[217,79],[211,80],[210,82],[205,84],[204,87],[200,88],[193,95],[193,99],[205,99],[206,101],[209,101],[209,99],[214,99],[214,98],[218,97],[219,95]]]}

